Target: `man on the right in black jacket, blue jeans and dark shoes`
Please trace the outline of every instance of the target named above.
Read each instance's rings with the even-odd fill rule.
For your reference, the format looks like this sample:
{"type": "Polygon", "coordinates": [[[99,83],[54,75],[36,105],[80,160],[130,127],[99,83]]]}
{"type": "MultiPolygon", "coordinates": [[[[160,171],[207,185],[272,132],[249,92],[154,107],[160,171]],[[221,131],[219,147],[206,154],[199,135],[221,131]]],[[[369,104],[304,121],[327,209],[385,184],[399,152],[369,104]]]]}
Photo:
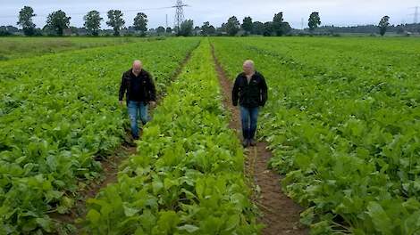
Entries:
{"type": "Polygon", "coordinates": [[[267,85],[262,74],[256,71],[253,61],[245,61],[243,72],[236,77],[232,89],[233,106],[240,105],[240,118],[242,122],[242,145],[255,146],[256,120],[258,107],[264,106],[267,101],[267,85]]]}

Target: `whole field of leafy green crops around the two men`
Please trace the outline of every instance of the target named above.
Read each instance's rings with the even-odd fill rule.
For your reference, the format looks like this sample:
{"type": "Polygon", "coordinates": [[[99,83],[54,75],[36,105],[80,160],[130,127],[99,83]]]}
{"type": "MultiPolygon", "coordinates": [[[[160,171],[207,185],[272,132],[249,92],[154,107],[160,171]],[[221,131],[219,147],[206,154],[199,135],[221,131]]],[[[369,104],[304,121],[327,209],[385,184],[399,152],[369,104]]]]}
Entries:
{"type": "Polygon", "coordinates": [[[30,41],[0,45],[8,52],[0,61],[0,234],[76,232],[51,214],[66,215],[127,138],[117,95],[135,59],[162,101],[117,182],[86,202],[78,232],[259,234],[211,45],[231,80],[247,59],[265,76],[257,135],[312,234],[420,234],[416,38],[101,40],[53,42],[54,52],[31,55],[5,49],[30,41]]]}

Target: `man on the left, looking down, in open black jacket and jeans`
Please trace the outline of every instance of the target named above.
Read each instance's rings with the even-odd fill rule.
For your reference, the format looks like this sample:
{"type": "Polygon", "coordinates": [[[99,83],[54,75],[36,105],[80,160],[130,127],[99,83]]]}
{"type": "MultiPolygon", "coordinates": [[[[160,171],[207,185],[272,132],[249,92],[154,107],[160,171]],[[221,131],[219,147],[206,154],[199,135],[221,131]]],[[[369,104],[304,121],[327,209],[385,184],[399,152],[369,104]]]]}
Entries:
{"type": "Polygon", "coordinates": [[[133,61],[132,68],[122,74],[119,101],[126,94],[129,110],[131,134],[134,140],[139,140],[139,118],[143,125],[148,122],[148,104],[155,106],[156,89],[152,76],[143,69],[141,61],[133,61]]]}

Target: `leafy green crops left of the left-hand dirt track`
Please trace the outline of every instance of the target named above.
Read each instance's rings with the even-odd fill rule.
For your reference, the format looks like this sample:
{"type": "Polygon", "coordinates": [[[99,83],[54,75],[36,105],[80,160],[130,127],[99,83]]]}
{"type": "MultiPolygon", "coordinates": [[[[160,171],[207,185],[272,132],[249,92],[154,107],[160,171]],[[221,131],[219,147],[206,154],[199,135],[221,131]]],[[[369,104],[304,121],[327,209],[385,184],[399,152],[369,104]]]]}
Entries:
{"type": "Polygon", "coordinates": [[[180,38],[0,64],[0,234],[54,232],[48,214],[67,213],[83,182],[100,176],[96,159],[125,139],[122,72],[141,58],[164,93],[195,45],[180,38]]]}

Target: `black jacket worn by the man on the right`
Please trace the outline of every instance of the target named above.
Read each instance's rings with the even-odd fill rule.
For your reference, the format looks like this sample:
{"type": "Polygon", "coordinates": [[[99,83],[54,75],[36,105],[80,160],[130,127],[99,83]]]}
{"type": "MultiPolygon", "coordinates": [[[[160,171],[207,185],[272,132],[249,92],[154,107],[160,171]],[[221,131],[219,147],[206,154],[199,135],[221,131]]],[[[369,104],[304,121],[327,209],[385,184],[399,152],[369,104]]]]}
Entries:
{"type": "Polygon", "coordinates": [[[267,85],[262,74],[256,72],[248,84],[245,73],[240,73],[236,77],[235,84],[231,92],[232,104],[239,104],[247,108],[264,106],[267,101],[267,85]]]}

